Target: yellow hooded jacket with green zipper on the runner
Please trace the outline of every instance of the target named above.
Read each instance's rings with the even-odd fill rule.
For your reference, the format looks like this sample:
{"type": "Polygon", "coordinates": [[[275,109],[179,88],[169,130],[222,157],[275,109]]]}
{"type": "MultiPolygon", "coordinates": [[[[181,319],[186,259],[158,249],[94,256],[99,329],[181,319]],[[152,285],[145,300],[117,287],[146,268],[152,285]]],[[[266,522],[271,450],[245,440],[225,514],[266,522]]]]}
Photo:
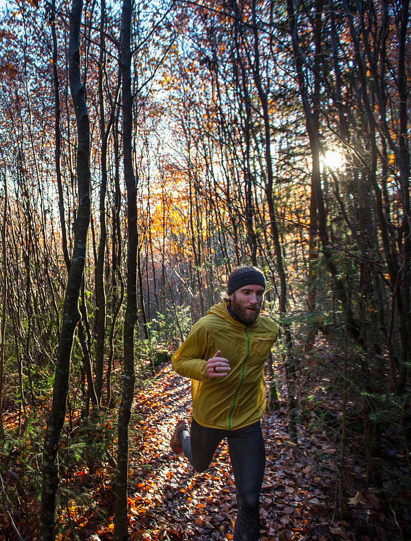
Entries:
{"type": "Polygon", "coordinates": [[[176,372],[191,378],[193,417],[211,428],[235,430],[251,425],[265,410],[264,362],[278,337],[278,326],[262,315],[248,327],[228,313],[228,301],[214,305],[193,325],[173,355],[176,372]],[[231,371],[210,379],[207,359],[220,349],[231,371]]]}

